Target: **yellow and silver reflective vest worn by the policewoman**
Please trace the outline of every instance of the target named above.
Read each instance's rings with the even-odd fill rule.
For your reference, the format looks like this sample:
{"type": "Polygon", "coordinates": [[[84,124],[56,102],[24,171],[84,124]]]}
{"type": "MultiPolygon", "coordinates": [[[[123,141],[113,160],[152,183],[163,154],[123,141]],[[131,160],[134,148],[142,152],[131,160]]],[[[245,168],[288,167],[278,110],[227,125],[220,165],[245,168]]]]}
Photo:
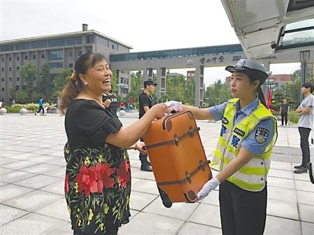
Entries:
{"type": "Polygon", "coordinates": [[[269,109],[264,107],[259,101],[257,109],[233,126],[234,114],[236,113],[234,103],[237,100],[239,99],[233,98],[229,100],[225,107],[222,129],[213,159],[211,160],[211,168],[220,171],[224,165],[227,165],[232,159],[237,158],[241,149],[241,142],[248,137],[260,121],[271,118],[274,122],[274,137],[271,139],[264,153],[260,156],[253,156],[246,165],[227,178],[227,181],[234,183],[240,188],[258,192],[266,185],[271,162],[271,150],[277,139],[277,120],[269,109]]]}

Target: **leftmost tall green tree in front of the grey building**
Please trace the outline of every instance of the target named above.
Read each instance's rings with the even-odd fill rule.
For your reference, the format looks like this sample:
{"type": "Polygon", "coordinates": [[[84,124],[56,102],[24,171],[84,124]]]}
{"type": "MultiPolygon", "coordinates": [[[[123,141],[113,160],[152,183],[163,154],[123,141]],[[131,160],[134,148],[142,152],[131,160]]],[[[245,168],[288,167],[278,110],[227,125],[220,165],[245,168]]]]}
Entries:
{"type": "Polygon", "coordinates": [[[38,75],[38,68],[33,64],[33,61],[30,61],[22,66],[19,73],[26,84],[28,99],[33,100],[33,81],[38,75]]]}

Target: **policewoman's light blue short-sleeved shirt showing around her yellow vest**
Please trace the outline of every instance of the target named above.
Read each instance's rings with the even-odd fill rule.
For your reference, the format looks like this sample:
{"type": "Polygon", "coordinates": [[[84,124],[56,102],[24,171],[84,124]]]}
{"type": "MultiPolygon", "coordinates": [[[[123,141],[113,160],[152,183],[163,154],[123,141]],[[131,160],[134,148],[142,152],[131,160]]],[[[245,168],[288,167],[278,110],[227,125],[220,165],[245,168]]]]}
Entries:
{"type": "MultiPolygon", "coordinates": [[[[214,107],[209,107],[209,112],[211,112],[211,116],[215,121],[221,120],[223,118],[223,113],[225,112],[225,107],[227,106],[227,103],[229,101],[221,104],[216,105],[214,107]]],[[[233,125],[239,123],[242,119],[246,118],[246,116],[250,115],[251,112],[253,112],[258,105],[258,98],[255,98],[251,103],[246,105],[243,109],[240,109],[240,100],[237,100],[236,103],[234,103],[234,106],[236,107],[236,114],[234,115],[233,125]]],[[[265,136],[264,136],[265,137],[265,136]]],[[[260,123],[255,126],[254,130],[248,134],[246,139],[241,143],[241,146],[243,146],[247,151],[253,153],[255,156],[260,156],[262,153],[264,153],[266,147],[271,142],[271,139],[274,137],[274,123],[269,119],[264,119],[260,121],[260,123]],[[266,137],[267,139],[260,143],[257,142],[256,136],[259,130],[268,130],[269,135],[266,137]]]]}

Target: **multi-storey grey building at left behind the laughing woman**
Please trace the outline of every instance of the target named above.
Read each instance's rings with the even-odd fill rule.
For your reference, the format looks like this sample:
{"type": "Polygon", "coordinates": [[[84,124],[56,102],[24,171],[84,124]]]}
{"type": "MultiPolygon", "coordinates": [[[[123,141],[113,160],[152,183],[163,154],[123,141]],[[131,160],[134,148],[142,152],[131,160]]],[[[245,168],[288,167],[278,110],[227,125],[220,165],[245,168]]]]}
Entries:
{"type": "MultiPolygon", "coordinates": [[[[110,63],[110,55],[130,52],[129,45],[105,36],[94,30],[88,30],[82,24],[82,31],[52,36],[22,38],[0,42],[0,99],[10,103],[9,89],[21,91],[26,88],[19,70],[29,61],[40,67],[47,62],[50,78],[53,79],[61,69],[74,70],[77,58],[87,52],[105,55],[110,63]]],[[[128,71],[117,71],[119,95],[124,96],[130,89],[128,71]]],[[[34,91],[37,78],[34,77],[34,91]]]]}

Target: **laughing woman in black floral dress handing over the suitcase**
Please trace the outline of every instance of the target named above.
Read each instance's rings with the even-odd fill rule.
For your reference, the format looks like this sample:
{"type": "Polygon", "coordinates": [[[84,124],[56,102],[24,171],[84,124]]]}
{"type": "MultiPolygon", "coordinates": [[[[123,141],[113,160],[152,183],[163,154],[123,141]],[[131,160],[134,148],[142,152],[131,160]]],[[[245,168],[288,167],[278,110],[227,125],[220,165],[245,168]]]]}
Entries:
{"type": "Polygon", "coordinates": [[[112,73],[101,54],[83,54],[63,90],[68,142],[65,195],[74,234],[117,234],[130,217],[130,161],[126,149],[143,150],[137,142],[167,107],[155,105],[142,119],[123,128],[103,105],[112,73]]]}

